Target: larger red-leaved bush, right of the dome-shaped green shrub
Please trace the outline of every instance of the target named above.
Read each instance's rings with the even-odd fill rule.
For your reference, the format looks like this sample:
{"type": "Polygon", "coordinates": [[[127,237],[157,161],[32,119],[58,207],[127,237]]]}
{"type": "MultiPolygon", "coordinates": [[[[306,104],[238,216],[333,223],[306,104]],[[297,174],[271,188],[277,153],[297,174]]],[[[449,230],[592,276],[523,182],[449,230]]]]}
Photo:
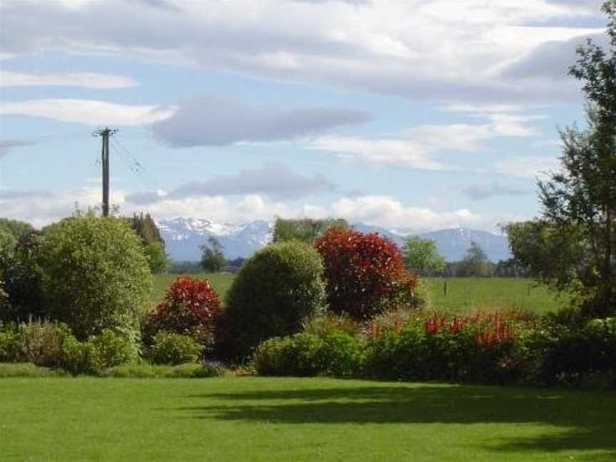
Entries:
{"type": "Polygon", "coordinates": [[[365,320],[416,304],[416,274],[404,268],[398,247],[377,233],[332,227],[316,242],[324,260],[329,307],[365,320]]]}

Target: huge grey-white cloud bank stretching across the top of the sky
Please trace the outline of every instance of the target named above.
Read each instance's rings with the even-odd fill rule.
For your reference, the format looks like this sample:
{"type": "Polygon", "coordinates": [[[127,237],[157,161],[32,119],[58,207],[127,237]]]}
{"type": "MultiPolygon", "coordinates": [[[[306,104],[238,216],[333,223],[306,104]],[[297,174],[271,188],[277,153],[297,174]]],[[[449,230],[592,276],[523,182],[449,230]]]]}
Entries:
{"type": "Polygon", "coordinates": [[[543,43],[596,32],[547,24],[582,13],[544,0],[151,3],[3,2],[2,52],[103,53],[438,101],[563,101],[576,97],[569,86],[501,72],[543,43]]]}

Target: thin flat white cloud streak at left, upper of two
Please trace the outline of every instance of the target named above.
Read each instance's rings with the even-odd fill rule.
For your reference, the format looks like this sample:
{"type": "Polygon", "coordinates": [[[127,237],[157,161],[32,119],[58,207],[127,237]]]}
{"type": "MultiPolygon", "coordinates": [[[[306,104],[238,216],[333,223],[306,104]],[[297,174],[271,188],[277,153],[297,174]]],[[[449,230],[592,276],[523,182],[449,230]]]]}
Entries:
{"type": "Polygon", "coordinates": [[[137,82],[125,76],[114,74],[76,73],[20,73],[0,71],[0,86],[76,86],[82,88],[130,88],[137,82]]]}

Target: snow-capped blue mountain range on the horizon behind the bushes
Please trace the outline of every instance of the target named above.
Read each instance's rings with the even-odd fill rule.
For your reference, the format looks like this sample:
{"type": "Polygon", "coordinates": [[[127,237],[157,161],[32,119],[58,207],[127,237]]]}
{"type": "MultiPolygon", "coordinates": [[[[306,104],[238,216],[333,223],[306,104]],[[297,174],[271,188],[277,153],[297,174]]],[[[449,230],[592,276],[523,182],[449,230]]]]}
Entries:
{"type": "MultiPolygon", "coordinates": [[[[165,247],[170,257],[175,261],[200,260],[200,245],[205,244],[209,237],[215,237],[224,247],[225,256],[233,260],[238,257],[249,257],[255,250],[267,245],[272,240],[273,222],[255,220],[243,225],[227,225],[206,220],[204,218],[175,218],[160,220],[156,223],[160,234],[165,240],[165,247]]],[[[488,258],[493,262],[510,257],[507,237],[491,232],[454,228],[431,232],[411,232],[410,230],[391,230],[357,223],[353,225],[361,232],[379,232],[401,246],[411,235],[436,242],[438,252],[448,262],[461,260],[475,241],[481,246],[488,258]]]]}

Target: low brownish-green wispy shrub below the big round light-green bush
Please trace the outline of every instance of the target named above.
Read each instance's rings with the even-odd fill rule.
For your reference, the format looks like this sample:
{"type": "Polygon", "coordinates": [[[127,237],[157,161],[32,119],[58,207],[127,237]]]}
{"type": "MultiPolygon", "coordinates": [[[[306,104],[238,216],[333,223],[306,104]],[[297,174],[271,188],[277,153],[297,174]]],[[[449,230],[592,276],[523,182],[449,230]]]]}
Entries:
{"type": "Polygon", "coordinates": [[[24,359],[37,366],[57,367],[63,361],[63,343],[71,336],[66,324],[35,319],[19,324],[24,359]]]}

